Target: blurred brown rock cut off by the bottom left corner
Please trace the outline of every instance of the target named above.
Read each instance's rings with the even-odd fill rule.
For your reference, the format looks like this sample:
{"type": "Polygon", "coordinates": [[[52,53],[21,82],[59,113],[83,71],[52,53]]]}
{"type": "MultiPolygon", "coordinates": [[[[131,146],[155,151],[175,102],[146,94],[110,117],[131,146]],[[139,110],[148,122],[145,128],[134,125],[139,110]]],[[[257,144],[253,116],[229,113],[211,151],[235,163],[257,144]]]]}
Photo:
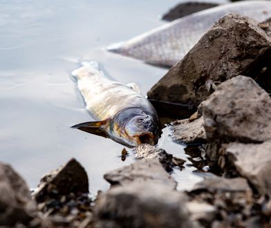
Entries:
{"type": "Polygon", "coordinates": [[[10,165],[0,162],[0,225],[27,224],[34,209],[24,179],[10,165]]]}

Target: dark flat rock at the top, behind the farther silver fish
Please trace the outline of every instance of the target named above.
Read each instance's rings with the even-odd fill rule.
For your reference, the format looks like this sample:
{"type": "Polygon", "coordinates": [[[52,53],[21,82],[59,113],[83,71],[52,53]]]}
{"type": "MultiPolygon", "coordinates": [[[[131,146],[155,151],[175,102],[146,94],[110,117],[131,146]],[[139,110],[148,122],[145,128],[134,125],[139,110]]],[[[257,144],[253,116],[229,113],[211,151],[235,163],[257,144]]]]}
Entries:
{"type": "Polygon", "coordinates": [[[165,13],[165,15],[162,16],[162,20],[173,21],[180,17],[191,15],[194,12],[213,8],[215,6],[218,6],[218,3],[198,2],[198,1],[189,1],[185,3],[180,3],[174,8],[171,8],[169,12],[165,13]]]}

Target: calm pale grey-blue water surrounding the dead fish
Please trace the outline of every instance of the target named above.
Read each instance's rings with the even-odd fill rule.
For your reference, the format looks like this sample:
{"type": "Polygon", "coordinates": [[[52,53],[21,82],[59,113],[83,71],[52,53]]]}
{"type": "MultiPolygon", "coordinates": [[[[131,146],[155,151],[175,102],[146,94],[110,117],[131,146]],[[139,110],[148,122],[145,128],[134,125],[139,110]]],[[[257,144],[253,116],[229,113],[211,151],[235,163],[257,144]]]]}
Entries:
{"type": "MultiPolygon", "coordinates": [[[[122,145],[69,127],[91,121],[71,71],[80,61],[99,61],[111,77],[136,82],[146,94],[166,70],[104,48],[160,26],[158,15],[176,3],[0,0],[0,160],[35,188],[44,173],[76,158],[88,173],[90,191],[107,189],[103,174],[130,164],[133,155],[122,162],[122,145]]],[[[159,145],[187,157],[168,134],[165,129],[159,145]]],[[[179,189],[198,181],[193,170],[174,173],[179,189]]]]}

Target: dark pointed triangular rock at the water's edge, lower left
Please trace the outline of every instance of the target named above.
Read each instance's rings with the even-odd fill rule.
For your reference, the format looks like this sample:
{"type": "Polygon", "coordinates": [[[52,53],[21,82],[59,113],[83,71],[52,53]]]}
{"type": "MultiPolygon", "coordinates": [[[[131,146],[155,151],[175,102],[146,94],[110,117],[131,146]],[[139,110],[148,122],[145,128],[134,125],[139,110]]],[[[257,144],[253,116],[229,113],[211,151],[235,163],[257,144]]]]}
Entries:
{"type": "Polygon", "coordinates": [[[34,197],[37,202],[44,202],[48,196],[70,193],[74,193],[75,196],[88,193],[88,176],[82,165],[74,158],[63,167],[45,175],[34,197]]]}

